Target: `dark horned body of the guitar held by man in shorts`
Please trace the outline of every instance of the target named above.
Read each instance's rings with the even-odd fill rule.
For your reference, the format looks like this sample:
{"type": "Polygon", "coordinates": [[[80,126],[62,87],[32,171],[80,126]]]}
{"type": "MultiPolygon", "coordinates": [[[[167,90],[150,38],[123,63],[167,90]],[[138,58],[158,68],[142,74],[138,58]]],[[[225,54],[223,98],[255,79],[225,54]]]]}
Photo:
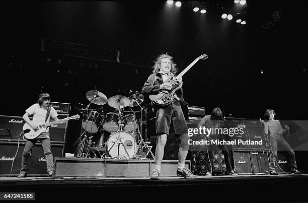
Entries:
{"type": "Polygon", "coordinates": [[[172,85],[172,89],[160,90],[157,95],[149,95],[149,99],[159,106],[169,105],[172,102],[174,93],[183,85],[183,82],[179,83],[173,76],[170,76],[164,83],[170,83],[172,85]]]}

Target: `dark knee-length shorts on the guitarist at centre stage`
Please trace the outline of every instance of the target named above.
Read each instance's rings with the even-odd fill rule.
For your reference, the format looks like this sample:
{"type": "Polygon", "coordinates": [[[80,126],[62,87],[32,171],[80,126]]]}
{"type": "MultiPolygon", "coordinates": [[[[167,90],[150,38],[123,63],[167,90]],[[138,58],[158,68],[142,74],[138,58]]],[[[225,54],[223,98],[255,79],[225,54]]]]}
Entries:
{"type": "Polygon", "coordinates": [[[173,99],[172,103],[167,107],[159,108],[156,113],[156,134],[169,135],[169,129],[173,121],[175,134],[188,133],[188,127],[180,105],[180,102],[173,99]]]}

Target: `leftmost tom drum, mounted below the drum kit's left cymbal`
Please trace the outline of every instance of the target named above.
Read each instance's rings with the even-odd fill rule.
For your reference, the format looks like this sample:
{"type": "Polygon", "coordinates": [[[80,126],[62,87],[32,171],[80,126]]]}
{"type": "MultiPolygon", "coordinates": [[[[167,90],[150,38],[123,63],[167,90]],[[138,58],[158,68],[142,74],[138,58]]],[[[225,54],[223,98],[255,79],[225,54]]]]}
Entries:
{"type": "Polygon", "coordinates": [[[97,111],[90,111],[87,120],[83,122],[82,126],[84,130],[90,133],[96,133],[98,131],[98,127],[101,124],[103,119],[102,114],[97,111]]]}

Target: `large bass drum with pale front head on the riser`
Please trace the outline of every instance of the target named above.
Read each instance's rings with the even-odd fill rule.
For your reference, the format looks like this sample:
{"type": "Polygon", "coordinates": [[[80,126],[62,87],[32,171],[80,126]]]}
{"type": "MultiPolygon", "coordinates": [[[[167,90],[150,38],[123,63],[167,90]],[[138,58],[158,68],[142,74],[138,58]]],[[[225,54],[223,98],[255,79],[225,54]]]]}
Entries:
{"type": "Polygon", "coordinates": [[[135,149],[136,149],[137,144],[136,144],[135,138],[129,132],[117,131],[111,134],[111,136],[109,137],[107,141],[106,146],[107,146],[106,151],[108,152],[110,150],[109,155],[112,158],[117,157],[117,156],[124,156],[127,158],[132,158],[135,154],[135,149]],[[123,148],[123,145],[121,143],[120,145],[116,143],[119,133],[120,133],[120,140],[122,141],[128,155],[126,154],[123,148]],[[118,154],[118,149],[119,149],[119,154],[118,154]]]}

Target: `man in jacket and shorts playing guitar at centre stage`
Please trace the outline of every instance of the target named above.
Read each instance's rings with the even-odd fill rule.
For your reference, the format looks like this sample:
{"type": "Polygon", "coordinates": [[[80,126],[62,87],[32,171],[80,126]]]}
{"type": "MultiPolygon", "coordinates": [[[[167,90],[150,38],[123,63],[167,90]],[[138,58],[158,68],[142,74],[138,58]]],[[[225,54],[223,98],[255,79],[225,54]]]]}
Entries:
{"type": "MultiPolygon", "coordinates": [[[[170,82],[165,82],[170,76],[174,77],[177,72],[176,64],[172,60],[172,56],[161,54],[155,60],[153,66],[153,74],[151,74],[142,87],[142,93],[148,95],[156,95],[161,91],[172,90],[173,86],[170,82]],[[164,83],[165,82],[165,83],[164,83]]],[[[176,78],[177,83],[182,83],[182,78],[176,78]]],[[[172,102],[166,106],[156,105],[156,134],[158,137],[155,151],[155,168],[151,173],[150,179],[159,179],[161,174],[161,163],[164,157],[164,148],[169,135],[171,121],[173,122],[175,134],[181,139],[179,148],[179,162],[177,168],[177,176],[185,178],[195,178],[188,168],[185,168],[185,159],[188,153],[188,127],[181,108],[181,104],[187,105],[183,99],[182,87],[174,92],[172,102]]]]}

